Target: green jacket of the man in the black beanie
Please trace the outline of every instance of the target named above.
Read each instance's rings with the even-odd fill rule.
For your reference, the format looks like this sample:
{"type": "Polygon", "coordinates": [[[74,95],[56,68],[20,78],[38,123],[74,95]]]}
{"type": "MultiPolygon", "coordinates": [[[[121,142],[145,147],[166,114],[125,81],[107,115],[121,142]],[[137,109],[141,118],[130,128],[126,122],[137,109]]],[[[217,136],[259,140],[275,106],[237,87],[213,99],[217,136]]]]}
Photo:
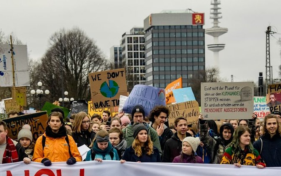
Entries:
{"type": "MultiPolygon", "coordinates": [[[[155,131],[155,129],[153,129],[152,127],[150,127],[147,123],[143,122],[143,124],[147,127],[148,129],[148,135],[150,136],[153,145],[155,147],[157,147],[157,149],[160,152],[160,155],[162,154],[162,150],[161,150],[161,146],[160,146],[160,142],[159,142],[159,137],[157,132],[155,131]]],[[[123,137],[127,142],[127,148],[129,148],[133,141],[134,141],[134,137],[133,137],[133,127],[134,125],[130,124],[128,125],[126,128],[124,128],[123,131],[123,137]]]]}

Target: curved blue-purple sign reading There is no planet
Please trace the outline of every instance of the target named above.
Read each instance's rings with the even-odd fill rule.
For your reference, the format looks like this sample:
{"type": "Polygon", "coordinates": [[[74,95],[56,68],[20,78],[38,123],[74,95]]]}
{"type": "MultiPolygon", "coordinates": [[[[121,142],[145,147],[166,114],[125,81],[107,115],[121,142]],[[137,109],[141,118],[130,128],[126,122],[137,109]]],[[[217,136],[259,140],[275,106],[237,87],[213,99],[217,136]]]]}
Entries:
{"type": "Polygon", "coordinates": [[[155,106],[166,105],[165,89],[149,85],[135,85],[124,103],[123,111],[131,113],[136,105],[141,105],[145,115],[148,116],[155,106]]]}

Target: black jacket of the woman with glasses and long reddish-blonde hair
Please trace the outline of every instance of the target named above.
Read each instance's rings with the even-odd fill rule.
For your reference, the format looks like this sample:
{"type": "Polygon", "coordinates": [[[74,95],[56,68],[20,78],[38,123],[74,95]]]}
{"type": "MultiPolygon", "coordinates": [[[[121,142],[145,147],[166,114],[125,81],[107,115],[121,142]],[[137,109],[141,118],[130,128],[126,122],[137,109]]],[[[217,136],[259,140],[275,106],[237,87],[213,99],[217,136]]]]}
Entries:
{"type": "Polygon", "coordinates": [[[82,145],[87,145],[89,147],[95,137],[95,132],[91,131],[81,131],[81,133],[75,132],[72,133],[74,141],[77,143],[77,147],[82,145]]]}

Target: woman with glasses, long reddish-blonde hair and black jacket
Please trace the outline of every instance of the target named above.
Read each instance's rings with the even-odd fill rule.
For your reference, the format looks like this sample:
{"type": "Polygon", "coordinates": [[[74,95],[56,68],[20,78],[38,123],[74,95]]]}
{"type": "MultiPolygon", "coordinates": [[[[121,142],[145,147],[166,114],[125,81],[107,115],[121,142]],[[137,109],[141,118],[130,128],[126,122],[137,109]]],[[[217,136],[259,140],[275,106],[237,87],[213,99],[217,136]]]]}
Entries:
{"type": "Polygon", "coordinates": [[[89,147],[95,137],[95,132],[90,128],[89,116],[83,111],[77,113],[72,125],[72,137],[77,143],[77,147],[84,144],[89,147]]]}

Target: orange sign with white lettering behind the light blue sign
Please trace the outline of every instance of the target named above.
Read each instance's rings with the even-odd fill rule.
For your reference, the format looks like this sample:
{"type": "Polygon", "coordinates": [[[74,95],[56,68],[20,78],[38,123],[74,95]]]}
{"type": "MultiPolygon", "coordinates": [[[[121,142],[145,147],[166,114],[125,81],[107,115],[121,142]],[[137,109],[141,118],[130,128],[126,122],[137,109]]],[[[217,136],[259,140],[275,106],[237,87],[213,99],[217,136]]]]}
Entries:
{"type": "Polygon", "coordinates": [[[177,80],[167,85],[167,87],[165,88],[166,104],[176,102],[173,94],[173,90],[182,88],[183,85],[182,80],[183,80],[182,77],[180,77],[177,80]]]}

